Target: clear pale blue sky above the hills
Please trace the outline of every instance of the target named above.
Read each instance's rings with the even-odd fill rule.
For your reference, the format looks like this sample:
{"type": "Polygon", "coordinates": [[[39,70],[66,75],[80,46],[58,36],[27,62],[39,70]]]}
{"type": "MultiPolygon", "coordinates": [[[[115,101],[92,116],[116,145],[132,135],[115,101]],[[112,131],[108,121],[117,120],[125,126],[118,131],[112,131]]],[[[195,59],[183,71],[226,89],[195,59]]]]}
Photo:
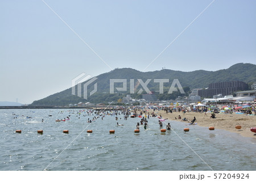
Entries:
{"type": "Polygon", "coordinates": [[[0,0],[0,101],[30,104],[81,73],[256,62],[254,0],[44,2],[0,0]]]}

